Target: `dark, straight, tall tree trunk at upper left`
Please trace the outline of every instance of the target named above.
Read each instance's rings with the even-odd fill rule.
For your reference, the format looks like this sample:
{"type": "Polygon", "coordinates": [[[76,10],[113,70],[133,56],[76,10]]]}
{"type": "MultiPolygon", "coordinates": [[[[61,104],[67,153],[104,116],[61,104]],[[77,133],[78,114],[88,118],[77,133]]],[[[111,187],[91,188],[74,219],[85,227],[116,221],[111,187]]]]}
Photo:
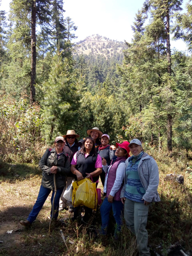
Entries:
{"type": "Polygon", "coordinates": [[[35,102],[36,97],[36,0],[32,1],[31,12],[31,85],[30,104],[35,102]]]}

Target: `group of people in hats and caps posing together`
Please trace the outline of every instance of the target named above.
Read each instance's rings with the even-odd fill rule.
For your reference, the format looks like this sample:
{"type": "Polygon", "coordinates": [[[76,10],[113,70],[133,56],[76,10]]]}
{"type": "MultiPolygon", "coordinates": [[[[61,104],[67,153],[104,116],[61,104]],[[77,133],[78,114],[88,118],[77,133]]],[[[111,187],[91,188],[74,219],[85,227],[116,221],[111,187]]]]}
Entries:
{"type": "MultiPolygon", "coordinates": [[[[139,139],[110,146],[109,135],[103,134],[97,127],[87,130],[87,134],[89,136],[78,142],[79,135],[74,130],[68,130],[67,134],[55,138],[54,148],[46,150],[39,162],[43,177],[36,203],[27,220],[20,221],[20,224],[27,227],[35,221],[51,191],[53,206],[55,186],[57,193],[54,209],[51,207],[51,217],[53,215],[53,219],[57,219],[59,208],[68,205],[69,211],[74,212],[72,220],[75,220],[80,207],[73,208],[72,202],[65,200],[65,189],[71,185],[73,178],[88,178],[96,182],[97,186],[100,176],[106,195],[100,207],[100,233],[107,235],[112,209],[116,221],[114,236],[118,239],[124,210],[126,226],[136,235],[139,255],[149,256],[146,230],[148,209],[150,203],[160,201],[155,159],[144,152],[139,139]]],[[[83,221],[88,222],[92,209],[84,207],[84,210],[83,221]]]]}

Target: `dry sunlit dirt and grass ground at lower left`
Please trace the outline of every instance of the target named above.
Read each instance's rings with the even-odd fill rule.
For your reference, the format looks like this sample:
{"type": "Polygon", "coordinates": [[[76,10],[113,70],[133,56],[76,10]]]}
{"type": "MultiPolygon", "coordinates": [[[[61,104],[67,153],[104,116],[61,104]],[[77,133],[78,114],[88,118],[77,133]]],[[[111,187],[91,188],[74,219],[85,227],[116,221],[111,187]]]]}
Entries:
{"type": "Polygon", "coordinates": [[[48,234],[51,194],[29,230],[19,224],[20,220],[28,217],[36,201],[40,184],[41,177],[38,175],[15,182],[0,183],[0,256],[67,256],[72,255],[72,251],[73,255],[102,255],[104,248],[96,243],[92,246],[91,254],[87,254],[87,249],[83,254],[82,246],[85,244],[75,244],[74,248],[74,234],[78,238],[80,231],[78,227],[74,228],[71,220],[73,214],[66,210],[60,212],[58,218],[68,219],[64,221],[65,225],[54,226],[53,223],[51,235],[48,234]],[[60,236],[60,229],[63,230],[65,238],[71,240],[72,244],[67,243],[68,248],[60,236]]]}

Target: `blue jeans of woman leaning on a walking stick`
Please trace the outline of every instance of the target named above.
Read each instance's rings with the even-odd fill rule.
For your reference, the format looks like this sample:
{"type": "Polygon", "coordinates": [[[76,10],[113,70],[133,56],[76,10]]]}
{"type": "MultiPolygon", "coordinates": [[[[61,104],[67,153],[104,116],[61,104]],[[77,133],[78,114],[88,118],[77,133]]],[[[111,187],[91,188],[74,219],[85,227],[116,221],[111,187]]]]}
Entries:
{"type": "MultiPolygon", "coordinates": [[[[36,199],[36,203],[32,209],[32,211],[30,212],[27,220],[32,224],[38,213],[40,212],[41,208],[43,207],[46,199],[48,198],[48,195],[51,193],[51,189],[45,188],[42,185],[40,186],[40,190],[39,190],[39,194],[38,197],[36,199]]],[[[59,203],[60,203],[60,195],[62,194],[63,188],[61,189],[57,189],[57,193],[55,196],[55,202],[54,202],[54,211],[55,211],[55,215],[54,215],[54,219],[58,218],[59,215],[59,203]]],[[[53,196],[54,196],[55,192],[52,191],[52,196],[51,196],[51,216],[52,216],[52,204],[53,204],[53,196]]]]}

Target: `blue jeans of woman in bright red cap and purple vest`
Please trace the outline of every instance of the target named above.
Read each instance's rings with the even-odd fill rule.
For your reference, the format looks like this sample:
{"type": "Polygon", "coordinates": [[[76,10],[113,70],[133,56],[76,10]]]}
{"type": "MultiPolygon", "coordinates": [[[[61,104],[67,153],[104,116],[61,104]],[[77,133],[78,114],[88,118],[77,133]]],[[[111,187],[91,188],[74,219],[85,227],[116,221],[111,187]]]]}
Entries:
{"type": "Polygon", "coordinates": [[[109,222],[109,213],[110,210],[113,210],[113,216],[116,221],[116,228],[115,228],[115,236],[117,236],[117,232],[120,232],[121,225],[122,225],[122,211],[123,211],[123,204],[121,201],[113,201],[112,203],[108,202],[108,198],[106,197],[103,201],[103,204],[100,207],[101,213],[101,233],[106,235],[108,229],[108,222],[109,222]]]}

